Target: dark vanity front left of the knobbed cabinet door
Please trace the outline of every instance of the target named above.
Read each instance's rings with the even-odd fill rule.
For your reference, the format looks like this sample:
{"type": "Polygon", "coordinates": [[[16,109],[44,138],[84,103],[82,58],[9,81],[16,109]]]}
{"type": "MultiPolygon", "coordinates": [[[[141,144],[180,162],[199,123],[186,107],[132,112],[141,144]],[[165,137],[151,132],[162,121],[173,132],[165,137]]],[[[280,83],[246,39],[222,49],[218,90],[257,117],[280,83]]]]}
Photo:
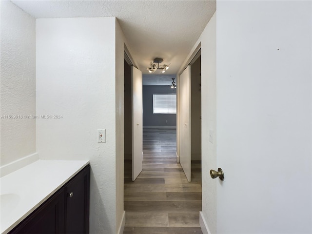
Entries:
{"type": "Polygon", "coordinates": [[[64,188],[61,188],[26,217],[10,234],[63,234],[64,195],[64,188]]]}

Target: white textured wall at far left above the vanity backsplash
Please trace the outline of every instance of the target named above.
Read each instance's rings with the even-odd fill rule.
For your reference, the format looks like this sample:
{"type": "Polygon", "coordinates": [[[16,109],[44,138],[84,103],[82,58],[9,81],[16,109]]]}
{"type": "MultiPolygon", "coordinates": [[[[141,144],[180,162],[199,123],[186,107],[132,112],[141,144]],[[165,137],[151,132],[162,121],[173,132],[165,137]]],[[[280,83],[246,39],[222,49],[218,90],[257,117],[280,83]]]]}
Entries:
{"type": "Polygon", "coordinates": [[[36,152],[35,19],[1,0],[1,166],[36,152]],[[7,115],[21,118],[7,119],[7,115]]]}

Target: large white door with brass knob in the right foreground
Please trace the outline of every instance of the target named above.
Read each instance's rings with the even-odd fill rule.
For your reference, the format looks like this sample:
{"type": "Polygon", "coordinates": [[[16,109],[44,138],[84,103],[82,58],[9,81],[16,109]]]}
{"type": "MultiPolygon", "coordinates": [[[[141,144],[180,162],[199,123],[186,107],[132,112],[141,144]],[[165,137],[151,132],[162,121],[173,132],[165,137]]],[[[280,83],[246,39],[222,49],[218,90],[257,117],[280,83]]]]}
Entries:
{"type": "Polygon", "coordinates": [[[219,234],[312,233],[311,7],[217,3],[219,234]]]}

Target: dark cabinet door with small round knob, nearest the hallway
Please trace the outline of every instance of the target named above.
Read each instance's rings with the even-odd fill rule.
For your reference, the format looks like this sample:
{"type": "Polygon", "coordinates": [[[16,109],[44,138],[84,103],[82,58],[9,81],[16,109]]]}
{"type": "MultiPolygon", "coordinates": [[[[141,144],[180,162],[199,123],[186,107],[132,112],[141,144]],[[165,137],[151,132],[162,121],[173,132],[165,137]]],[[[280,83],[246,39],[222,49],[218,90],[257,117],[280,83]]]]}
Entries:
{"type": "Polygon", "coordinates": [[[89,233],[90,165],[65,185],[65,233],[89,233]]]}

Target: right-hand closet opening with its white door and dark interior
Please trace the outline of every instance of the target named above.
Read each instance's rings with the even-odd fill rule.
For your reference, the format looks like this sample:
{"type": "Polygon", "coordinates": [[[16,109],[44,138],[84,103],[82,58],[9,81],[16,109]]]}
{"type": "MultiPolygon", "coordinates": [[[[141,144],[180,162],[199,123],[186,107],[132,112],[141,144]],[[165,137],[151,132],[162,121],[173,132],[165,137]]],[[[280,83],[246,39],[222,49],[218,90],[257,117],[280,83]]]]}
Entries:
{"type": "Polygon", "coordinates": [[[200,49],[179,76],[179,162],[187,180],[201,172],[201,57],[200,49]]]}

